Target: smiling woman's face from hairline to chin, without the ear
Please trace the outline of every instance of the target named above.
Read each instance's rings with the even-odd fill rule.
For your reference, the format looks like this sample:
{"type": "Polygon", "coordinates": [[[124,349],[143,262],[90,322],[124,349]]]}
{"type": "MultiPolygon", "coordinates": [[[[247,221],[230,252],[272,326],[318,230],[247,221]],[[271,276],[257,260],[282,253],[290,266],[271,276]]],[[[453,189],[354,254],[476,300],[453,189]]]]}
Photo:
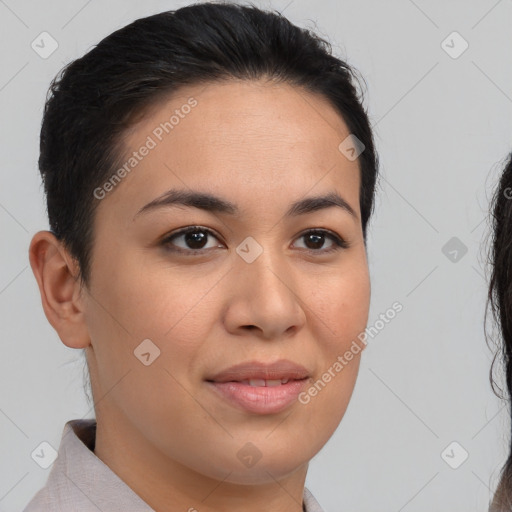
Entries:
{"type": "Polygon", "coordinates": [[[126,172],[96,193],[81,297],[98,424],[219,480],[307,467],[348,406],[361,354],[339,356],[368,319],[360,171],[338,149],[348,135],[321,97],[235,81],[187,87],[130,129],[126,172]],[[229,205],[144,208],[171,189],[229,205]],[[344,206],[289,212],[329,194],[344,206]],[[211,382],[233,365],[282,360],[307,377],[266,390],[211,382]],[[260,458],[251,466],[247,455],[260,458]]]}

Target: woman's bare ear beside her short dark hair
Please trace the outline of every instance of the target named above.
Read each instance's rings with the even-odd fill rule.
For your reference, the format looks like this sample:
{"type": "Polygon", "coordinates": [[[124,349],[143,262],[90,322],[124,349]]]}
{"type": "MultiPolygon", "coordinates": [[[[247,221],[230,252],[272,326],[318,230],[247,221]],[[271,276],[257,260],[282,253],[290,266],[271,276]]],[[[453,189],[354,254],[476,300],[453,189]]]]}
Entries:
{"type": "Polygon", "coordinates": [[[29,259],[48,322],[64,345],[86,348],[91,340],[81,300],[78,264],[50,231],[39,231],[32,237],[29,259]]]}

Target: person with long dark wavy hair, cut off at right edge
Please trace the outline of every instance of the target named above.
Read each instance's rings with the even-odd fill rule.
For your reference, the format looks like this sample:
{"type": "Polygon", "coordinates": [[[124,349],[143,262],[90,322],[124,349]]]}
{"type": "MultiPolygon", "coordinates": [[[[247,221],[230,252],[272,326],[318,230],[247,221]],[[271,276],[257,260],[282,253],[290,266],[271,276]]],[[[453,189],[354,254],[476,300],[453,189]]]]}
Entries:
{"type": "MultiPolygon", "coordinates": [[[[488,304],[501,334],[507,400],[512,396],[512,153],[492,200],[491,279],[488,304]]],[[[498,356],[498,353],[496,354],[498,356]]],[[[495,359],[496,360],[496,359],[495,359]]],[[[494,366],[494,364],[493,364],[494,366]]],[[[491,379],[494,389],[494,381],[491,379]]],[[[503,397],[501,397],[503,398],[503,397]]],[[[489,512],[512,510],[512,445],[489,512]]]]}

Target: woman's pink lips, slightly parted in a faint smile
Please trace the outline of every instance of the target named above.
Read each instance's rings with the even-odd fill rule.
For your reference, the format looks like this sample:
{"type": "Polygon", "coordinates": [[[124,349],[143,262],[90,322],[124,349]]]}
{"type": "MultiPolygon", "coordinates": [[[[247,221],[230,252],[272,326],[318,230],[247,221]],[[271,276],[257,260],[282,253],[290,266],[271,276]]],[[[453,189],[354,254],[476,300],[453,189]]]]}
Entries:
{"type": "Polygon", "coordinates": [[[309,381],[304,366],[281,359],[274,363],[248,361],[206,379],[213,392],[232,405],[255,414],[277,414],[290,407],[309,381]],[[283,380],[285,384],[251,386],[250,379],[283,380]]]}

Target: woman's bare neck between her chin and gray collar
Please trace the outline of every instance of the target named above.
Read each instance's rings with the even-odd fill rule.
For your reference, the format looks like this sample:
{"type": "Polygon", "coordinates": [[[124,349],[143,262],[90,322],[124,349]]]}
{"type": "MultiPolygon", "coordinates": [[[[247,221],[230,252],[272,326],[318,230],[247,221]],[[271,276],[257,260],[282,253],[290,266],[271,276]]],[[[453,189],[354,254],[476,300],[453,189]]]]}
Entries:
{"type": "Polygon", "coordinates": [[[238,484],[201,474],[163,454],[126,418],[96,411],[94,453],[157,512],[302,512],[308,465],[282,479],[238,484]]]}

